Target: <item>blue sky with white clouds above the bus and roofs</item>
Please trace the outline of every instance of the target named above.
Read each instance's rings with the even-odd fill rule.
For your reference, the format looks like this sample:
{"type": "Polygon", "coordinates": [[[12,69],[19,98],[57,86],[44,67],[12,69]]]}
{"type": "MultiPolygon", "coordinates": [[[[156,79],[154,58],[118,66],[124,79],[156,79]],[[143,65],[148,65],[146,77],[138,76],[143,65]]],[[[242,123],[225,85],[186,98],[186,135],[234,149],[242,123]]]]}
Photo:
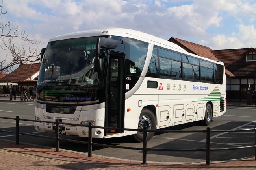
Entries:
{"type": "Polygon", "coordinates": [[[0,22],[40,42],[17,40],[30,48],[46,47],[56,35],[101,28],[175,37],[213,50],[256,47],[256,0],[3,0],[3,7],[0,22]]]}

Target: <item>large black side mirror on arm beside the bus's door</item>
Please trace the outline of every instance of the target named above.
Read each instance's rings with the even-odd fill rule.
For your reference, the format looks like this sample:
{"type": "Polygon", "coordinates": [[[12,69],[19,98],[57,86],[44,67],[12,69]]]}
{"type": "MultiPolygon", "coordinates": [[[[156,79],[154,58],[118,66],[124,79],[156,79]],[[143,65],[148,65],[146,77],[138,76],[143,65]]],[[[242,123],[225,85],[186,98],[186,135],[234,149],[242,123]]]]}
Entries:
{"type": "Polygon", "coordinates": [[[105,38],[105,37],[99,37],[97,39],[96,43],[96,56],[94,58],[94,71],[95,72],[101,72],[102,71],[102,59],[105,57],[105,52],[103,50],[107,49],[115,49],[118,45],[117,40],[105,38]]]}

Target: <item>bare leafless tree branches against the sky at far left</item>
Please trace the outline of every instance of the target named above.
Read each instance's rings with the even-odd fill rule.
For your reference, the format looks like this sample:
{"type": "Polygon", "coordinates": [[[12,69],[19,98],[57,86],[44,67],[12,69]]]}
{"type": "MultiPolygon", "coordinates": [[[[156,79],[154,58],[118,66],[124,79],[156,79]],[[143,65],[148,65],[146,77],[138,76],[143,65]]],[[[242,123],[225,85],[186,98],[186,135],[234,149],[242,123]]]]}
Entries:
{"type": "MultiPolygon", "coordinates": [[[[2,16],[7,13],[6,9],[3,7],[3,0],[0,4],[0,48],[7,51],[7,55],[3,60],[0,60],[0,71],[12,68],[13,66],[20,64],[20,62],[28,63],[33,62],[32,58],[37,56],[38,49],[29,48],[25,49],[23,44],[15,43],[16,39],[21,39],[24,42],[30,44],[39,44],[35,38],[29,38],[28,35],[25,35],[25,31],[18,31],[18,26],[15,29],[11,29],[10,21],[7,23],[1,22],[2,16]]],[[[1,54],[0,54],[1,55],[1,54]]]]}

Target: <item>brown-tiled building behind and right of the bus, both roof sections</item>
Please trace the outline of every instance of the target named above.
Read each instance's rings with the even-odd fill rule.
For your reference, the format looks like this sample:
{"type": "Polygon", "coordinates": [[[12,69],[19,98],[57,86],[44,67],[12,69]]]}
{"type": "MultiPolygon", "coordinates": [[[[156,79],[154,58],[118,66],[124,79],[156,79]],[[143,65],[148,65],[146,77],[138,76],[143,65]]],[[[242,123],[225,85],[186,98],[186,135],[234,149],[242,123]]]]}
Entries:
{"type": "Polygon", "coordinates": [[[212,50],[209,47],[171,37],[169,41],[193,53],[225,64],[226,96],[228,100],[246,100],[248,87],[250,92],[256,88],[256,48],[212,50]]]}

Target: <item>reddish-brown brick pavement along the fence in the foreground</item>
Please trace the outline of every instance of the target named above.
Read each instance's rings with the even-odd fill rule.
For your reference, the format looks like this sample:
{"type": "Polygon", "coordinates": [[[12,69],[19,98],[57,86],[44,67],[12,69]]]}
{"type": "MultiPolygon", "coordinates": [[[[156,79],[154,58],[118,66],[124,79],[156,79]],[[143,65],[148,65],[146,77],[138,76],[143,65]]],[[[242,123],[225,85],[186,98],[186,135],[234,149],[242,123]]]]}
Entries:
{"type": "MultiPolygon", "coordinates": [[[[8,98],[0,97],[0,100],[8,98]]],[[[228,102],[229,106],[247,106],[245,102],[228,102]]],[[[253,106],[256,107],[256,106],[253,106]]],[[[27,144],[16,145],[13,141],[0,140],[0,170],[256,170],[255,158],[226,162],[203,163],[154,163],[129,161],[60,150],[27,144]]]]}

